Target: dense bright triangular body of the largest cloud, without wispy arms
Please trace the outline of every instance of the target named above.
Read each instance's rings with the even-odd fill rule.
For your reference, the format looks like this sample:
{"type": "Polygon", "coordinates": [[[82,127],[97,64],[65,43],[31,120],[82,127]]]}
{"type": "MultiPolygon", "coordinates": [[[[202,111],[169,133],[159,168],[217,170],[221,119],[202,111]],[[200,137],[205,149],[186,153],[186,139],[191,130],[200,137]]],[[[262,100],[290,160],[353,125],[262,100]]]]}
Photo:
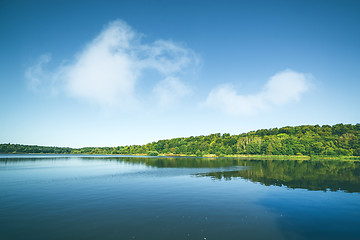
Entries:
{"type": "Polygon", "coordinates": [[[125,23],[111,23],[72,65],[63,68],[67,92],[105,105],[132,102],[139,76],[136,59],[128,52],[134,35],[125,23]]]}

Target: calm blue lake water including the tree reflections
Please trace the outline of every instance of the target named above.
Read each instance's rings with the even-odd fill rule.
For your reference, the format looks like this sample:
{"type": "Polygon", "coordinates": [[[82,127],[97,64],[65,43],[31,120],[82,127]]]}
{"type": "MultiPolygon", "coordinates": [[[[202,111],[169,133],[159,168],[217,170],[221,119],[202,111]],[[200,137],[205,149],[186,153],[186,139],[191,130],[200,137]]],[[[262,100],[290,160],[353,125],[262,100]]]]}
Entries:
{"type": "Polygon", "coordinates": [[[360,163],[0,155],[0,239],[360,239],[360,163]]]}

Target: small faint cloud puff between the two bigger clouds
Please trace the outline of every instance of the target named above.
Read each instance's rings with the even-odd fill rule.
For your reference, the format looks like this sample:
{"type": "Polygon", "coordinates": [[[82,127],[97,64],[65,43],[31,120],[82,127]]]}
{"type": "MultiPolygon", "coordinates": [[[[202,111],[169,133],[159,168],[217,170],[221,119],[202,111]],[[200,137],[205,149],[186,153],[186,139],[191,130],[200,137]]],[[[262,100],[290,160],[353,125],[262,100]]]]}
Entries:
{"type": "Polygon", "coordinates": [[[168,77],[159,82],[153,89],[158,97],[161,106],[169,106],[181,98],[191,93],[191,89],[181,82],[178,78],[168,77]]]}

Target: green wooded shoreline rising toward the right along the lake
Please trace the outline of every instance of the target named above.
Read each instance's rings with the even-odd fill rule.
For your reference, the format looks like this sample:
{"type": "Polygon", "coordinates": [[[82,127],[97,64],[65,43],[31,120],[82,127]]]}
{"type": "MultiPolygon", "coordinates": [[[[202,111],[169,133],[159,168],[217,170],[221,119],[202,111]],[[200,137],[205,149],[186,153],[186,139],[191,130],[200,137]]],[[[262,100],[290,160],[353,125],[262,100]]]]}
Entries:
{"type": "Polygon", "coordinates": [[[119,147],[72,149],[1,144],[0,153],[360,156],[359,139],[360,124],[303,125],[261,129],[240,135],[216,133],[119,147]]]}

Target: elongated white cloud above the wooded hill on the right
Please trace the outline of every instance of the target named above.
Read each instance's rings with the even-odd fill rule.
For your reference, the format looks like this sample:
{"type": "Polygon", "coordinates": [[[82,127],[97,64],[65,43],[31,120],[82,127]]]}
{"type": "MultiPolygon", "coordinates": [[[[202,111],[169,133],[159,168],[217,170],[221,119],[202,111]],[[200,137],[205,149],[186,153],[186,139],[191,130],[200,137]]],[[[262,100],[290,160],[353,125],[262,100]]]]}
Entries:
{"type": "Polygon", "coordinates": [[[254,115],[271,107],[299,101],[311,86],[311,75],[287,69],[272,76],[264,88],[249,95],[239,95],[233,85],[213,89],[205,102],[231,115],[254,115]]]}

